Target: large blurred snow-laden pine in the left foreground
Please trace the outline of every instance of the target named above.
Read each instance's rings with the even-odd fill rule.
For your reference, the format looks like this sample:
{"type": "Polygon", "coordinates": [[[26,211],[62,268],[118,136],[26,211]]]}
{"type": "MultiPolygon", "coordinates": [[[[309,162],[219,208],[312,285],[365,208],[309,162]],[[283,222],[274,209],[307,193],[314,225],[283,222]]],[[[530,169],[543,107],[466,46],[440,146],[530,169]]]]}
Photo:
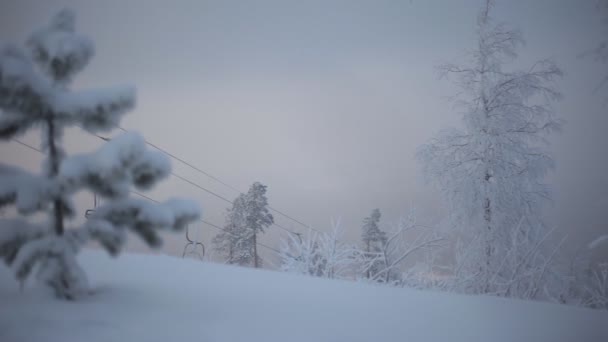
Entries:
{"type": "Polygon", "coordinates": [[[21,284],[35,269],[59,298],[75,299],[89,293],[76,261],[82,245],[95,240],[115,256],[130,230],[158,247],[159,231],[184,228],[199,217],[199,209],[185,200],[152,204],[129,197],[132,187],[149,189],[170,172],[169,160],[147,150],[137,134],[124,134],[91,154],[66,155],[65,127],[109,131],[135,104],[131,87],[70,89],[94,52],[92,41],[76,32],[73,12],[59,12],[26,47],[27,52],[0,47],[0,138],[40,127],[46,158],[40,174],[0,164],[0,206],[14,205],[22,216],[47,212],[48,220],[0,220],[0,258],[21,284]],[[83,189],[103,197],[104,204],[81,226],[69,227],[76,215],[70,198],[83,189]]]}

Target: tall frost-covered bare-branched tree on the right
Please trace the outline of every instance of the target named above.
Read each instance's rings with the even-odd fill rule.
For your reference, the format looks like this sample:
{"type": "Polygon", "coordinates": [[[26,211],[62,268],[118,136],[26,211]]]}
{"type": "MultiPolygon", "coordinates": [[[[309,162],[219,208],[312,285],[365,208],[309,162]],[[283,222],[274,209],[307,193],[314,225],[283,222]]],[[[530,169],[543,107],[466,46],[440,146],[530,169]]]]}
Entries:
{"type": "Polygon", "coordinates": [[[442,131],[418,153],[450,204],[450,222],[476,239],[469,271],[479,275],[482,292],[492,291],[491,270],[517,244],[514,229],[532,245],[546,235],[541,212],[550,194],[543,179],[554,167],[546,137],[561,126],[551,103],[561,97],[554,83],[562,72],[548,59],[509,70],[522,37],[495,23],[492,9],[487,1],[478,15],[469,63],[440,68],[461,89],[463,127],[442,131]]]}

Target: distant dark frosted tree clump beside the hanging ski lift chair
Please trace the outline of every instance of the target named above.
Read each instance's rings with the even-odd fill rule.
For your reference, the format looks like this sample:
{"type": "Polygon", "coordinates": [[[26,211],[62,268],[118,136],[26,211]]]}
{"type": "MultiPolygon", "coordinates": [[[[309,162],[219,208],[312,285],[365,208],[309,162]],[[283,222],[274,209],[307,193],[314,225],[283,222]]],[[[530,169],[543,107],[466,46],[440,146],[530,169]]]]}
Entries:
{"type": "Polygon", "coordinates": [[[257,237],[274,223],[266,186],[255,182],[246,194],[240,194],[228,210],[226,221],[224,231],[213,239],[216,250],[225,254],[230,264],[260,267],[257,237]]]}

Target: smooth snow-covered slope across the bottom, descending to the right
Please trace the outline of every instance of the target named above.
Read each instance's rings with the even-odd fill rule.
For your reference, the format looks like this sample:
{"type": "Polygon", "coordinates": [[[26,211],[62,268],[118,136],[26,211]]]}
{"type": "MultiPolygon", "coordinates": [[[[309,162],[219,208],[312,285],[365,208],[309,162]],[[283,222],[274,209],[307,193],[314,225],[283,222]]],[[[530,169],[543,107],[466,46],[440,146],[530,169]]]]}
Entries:
{"type": "Polygon", "coordinates": [[[81,256],[98,293],[20,293],[0,266],[0,341],[608,341],[608,312],[328,281],[167,256],[81,256]]]}

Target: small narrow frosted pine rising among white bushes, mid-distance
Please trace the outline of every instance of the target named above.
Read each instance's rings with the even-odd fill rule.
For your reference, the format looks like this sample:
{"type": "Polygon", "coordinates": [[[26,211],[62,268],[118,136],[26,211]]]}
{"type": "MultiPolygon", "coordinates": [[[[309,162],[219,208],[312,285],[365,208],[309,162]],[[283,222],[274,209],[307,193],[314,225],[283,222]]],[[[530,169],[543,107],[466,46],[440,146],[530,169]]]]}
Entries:
{"type": "Polygon", "coordinates": [[[386,243],[386,232],[380,230],[378,226],[380,217],[380,209],[374,209],[369,217],[363,219],[361,240],[369,260],[373,260],[365,270],[365,277],[367,279],[375,278],[376,274],[384,268],[382,260],[375,257],[386,243]]]}

